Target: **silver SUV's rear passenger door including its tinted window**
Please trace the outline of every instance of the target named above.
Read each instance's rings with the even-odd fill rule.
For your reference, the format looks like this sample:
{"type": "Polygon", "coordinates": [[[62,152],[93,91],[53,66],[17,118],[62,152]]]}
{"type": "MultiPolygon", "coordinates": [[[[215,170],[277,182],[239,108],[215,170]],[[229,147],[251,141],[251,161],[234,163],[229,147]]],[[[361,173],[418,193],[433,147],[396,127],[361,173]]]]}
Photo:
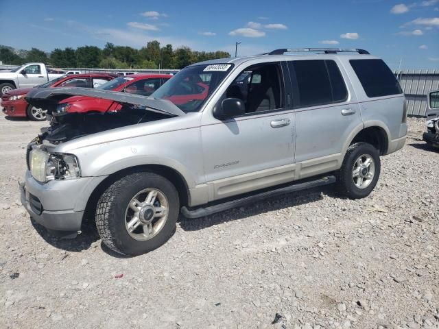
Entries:
{"type": "Polygon", "coordinates": [[[296,178],[340,168],[346,141],[363,125],[351,82],[337,58],[294,60],[288,67],[300,164],[296,178]]]}

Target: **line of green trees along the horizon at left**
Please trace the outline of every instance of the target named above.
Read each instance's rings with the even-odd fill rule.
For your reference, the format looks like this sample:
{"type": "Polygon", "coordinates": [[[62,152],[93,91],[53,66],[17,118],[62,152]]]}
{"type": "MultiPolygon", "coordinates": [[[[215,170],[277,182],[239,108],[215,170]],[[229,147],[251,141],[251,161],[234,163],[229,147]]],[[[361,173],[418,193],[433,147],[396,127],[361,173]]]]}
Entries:
{"type": "Polygon", "coordinates": [[[0,60],[3,64],[21,65],[25,62],[43,62],[64,68],[99,69],[182,69],[183,67],[216,58],[228,58],[226,51],[193,51],[189,47],[174,49],[172,45],[161,47],[160,42],[147,42],[145,47],[134,49],[116,46],[107,42],[104,49],[96,46],[83,46],[76,49],[56,48],[45,53],[37,48],[25,51],[23,56],[14,53],[9,47],[0,47],[0,60]]]}

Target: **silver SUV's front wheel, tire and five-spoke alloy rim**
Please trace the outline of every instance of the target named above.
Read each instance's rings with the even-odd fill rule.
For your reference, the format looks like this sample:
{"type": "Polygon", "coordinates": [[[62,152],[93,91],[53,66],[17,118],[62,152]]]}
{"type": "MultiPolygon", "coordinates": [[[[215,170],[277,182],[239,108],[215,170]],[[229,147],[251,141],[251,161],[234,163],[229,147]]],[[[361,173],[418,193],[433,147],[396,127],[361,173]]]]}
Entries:
{"type": "Polygon", "coordinates": [[[119,254],[145,254],[174,234],[179,208],[178,192],[169,180],[156,173],[132,173],[99,198],[97,232],[119,254]]]}

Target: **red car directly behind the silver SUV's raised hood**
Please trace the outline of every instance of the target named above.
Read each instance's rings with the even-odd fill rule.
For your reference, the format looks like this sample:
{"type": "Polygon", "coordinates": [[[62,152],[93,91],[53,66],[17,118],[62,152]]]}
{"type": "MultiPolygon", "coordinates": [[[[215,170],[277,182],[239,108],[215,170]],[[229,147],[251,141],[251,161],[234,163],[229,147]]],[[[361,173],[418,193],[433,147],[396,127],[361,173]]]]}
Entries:
{"type": "MultiPolygon", "coordinates": [[[[131,93],[143,96],[150,96],[162,84],[171,79],[172,75],[168,74],[132,74],[128,76],[117,77],[97,89],[113,90],[122,93],[131,93]]],[[[121,105],[109,99],[97,99],[86,96],[73,96],[63,99],[58,103],[54,116],[64,115],[67,113],[85,113],[85,112],[108,112],[121,109],[121,105]]]]}

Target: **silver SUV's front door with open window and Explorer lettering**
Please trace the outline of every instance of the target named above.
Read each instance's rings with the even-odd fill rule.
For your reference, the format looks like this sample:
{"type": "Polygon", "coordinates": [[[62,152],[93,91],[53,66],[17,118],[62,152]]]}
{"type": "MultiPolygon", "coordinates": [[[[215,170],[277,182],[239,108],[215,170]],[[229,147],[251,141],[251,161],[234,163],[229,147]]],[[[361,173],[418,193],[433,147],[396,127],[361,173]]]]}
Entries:
{"type": "Polygon", "coordinates": [[[220,121],[204,110],[201,138],[209,201],[294,179],[295,114],[285,108],[279,62],[250,66],[223,98],[239,98],[246,114],[220,121]]]}

